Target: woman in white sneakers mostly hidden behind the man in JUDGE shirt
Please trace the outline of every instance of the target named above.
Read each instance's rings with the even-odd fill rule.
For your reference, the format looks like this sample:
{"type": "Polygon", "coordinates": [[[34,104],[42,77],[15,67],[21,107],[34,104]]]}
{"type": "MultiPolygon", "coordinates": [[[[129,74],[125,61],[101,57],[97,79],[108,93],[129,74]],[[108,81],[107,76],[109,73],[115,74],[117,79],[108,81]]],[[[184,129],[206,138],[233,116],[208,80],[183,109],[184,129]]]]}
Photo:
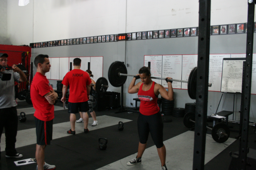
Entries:
{"type": "MultiPolygon", "coordinates": [[[[92,75],[92,71],[91,71],[91,70],[86,70],[85,72],[87,72],[87,73],[89,74],[89,76],[93,78],[93,75],[92,75]]],[[[92,86],[93,90],[96,91],[96,87],[95,87],[95,84],[96,84],[96,83],[95,83],[95,81],[94,81],[93,79],[91,79],[91,80],[92,80],[92,84],[94,84],[93,86],[92,86],[92,84],[91,84],[91,86],[92,86]]],[[[92,126],[96,126],[96,125],[98,125],[98,121],[97,121],[97,119],[96,119],[95,111],[94,111],[93,108],[92,108],[92,105],[93,105],[92,88],[91,88],[91,91],[90,91],[90,95],[89,95],[89,96],[90,96],[90,99],[88,100],[88,104],[89,104],[89,112],[90,112],[90,114],[91,114],[91,116],[92,116],[92,118],[93,118],[92,126]]],[[[76,122],[77,122],[77,123],[84,122],[84,121],[83,121],[83,118],[82,118],[82,112],[79,112],[79,113],[80,113],[81,118],[80,118],[79,120],[77,120],[76,122]]]]}

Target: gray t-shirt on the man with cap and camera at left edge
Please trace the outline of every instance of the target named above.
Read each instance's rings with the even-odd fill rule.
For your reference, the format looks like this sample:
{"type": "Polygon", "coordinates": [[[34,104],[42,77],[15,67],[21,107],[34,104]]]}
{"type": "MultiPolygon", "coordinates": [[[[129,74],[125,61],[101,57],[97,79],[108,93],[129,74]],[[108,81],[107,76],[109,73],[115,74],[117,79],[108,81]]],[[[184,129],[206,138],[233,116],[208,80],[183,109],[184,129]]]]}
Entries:
{"type": "Polygon", "coordinates": [[[11,73],[11,80],[2,81],[0,79],[0,108],[17,106],[15,101],[14,82],[19,82],[20,74],[13,70],[4,70],[5,73],[11,73]]]}

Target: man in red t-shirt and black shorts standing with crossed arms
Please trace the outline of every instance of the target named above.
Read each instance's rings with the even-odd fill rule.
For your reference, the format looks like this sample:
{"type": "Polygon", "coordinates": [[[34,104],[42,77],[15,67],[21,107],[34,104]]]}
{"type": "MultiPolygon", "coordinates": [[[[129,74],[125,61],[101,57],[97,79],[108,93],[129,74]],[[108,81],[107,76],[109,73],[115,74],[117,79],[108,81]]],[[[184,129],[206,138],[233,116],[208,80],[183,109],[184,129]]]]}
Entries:
{"type": "Polygon", "coordinates": [[[53,170],[54,165],[44,162],[44,150],[52,140],[52,124],[54,118],[54,102],[58,94],[53,91],[45,73],[50,71],[50,60],[48,55],[37,55],[34,61],[36,75],[30,88],[30,96],[35,111],[36,122],[36,161],[38,170],[53,170]]]}

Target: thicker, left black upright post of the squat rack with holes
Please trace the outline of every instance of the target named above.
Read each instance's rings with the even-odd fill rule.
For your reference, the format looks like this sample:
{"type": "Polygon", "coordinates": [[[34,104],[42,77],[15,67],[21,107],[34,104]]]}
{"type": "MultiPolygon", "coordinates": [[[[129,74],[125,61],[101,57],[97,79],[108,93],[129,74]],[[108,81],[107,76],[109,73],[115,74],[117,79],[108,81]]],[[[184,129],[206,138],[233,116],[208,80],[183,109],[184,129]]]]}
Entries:
{"type": "Polygon", "coordinates": [[[196,123],[193,170],[204,169],[210,55],[211,0],[199,0],[196,123]]]}

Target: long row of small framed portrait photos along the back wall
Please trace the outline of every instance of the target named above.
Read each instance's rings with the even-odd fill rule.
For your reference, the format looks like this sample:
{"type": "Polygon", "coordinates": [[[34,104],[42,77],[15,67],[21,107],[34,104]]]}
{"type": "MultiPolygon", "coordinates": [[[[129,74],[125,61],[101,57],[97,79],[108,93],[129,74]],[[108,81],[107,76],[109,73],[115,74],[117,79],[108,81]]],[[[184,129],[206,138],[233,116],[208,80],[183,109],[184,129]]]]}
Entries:
{"type": "MultiPolygon", "coordinates": [[[[198,27],[178,28],[167,30],[152,30],[143,32],[127,33],[127,41],[129,40],[145,40],[145,39],[158,39],[158,38],[176,38],[176,37],[192,37],[198,36],[198,27]]],[[[240,34],[247,33],[247,23],[215,25],[210,27],[210,35],[223,35],[223,34],[240,34]]],[[[256,22],[254,23],[254,33],[256,33],[256,22]]],[[[115,42],[118,34],[101,35],[74,39],[64,39],[55,41],[45,41],[30,43],[32,48],[77,45],[77,44],[91,44],[102,42],[115,42]]]]}

